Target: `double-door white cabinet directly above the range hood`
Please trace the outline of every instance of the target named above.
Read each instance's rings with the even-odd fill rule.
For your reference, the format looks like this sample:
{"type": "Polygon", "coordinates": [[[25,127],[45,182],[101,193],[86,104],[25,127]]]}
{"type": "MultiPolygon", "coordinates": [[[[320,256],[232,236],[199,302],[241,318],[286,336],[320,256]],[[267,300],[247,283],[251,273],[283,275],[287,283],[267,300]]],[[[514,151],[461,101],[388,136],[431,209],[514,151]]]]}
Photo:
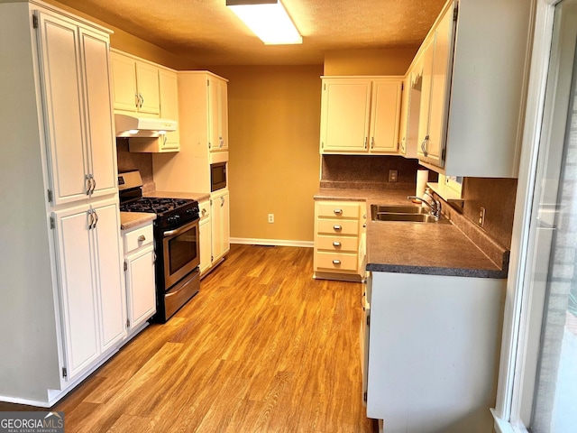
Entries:
{"type": "Polygon", "coordinates": [[[111,51],[114,110],[160,115],[159,70],[121,52],[111,51]]]}

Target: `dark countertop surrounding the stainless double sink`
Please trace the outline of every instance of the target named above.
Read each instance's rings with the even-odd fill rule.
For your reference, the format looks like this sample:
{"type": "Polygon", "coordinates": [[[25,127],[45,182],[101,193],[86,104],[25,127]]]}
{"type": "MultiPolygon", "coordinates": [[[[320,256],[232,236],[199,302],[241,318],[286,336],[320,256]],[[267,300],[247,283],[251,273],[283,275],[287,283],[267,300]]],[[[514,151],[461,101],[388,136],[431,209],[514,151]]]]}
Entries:
{"type": "Polygon", "coordinates": [[[371,204],[409,204],[415,189],[320,189],[316,200],[367,203],[367,271],[507,278],[508,269],[453,224],[371,221],[371,204]]]}

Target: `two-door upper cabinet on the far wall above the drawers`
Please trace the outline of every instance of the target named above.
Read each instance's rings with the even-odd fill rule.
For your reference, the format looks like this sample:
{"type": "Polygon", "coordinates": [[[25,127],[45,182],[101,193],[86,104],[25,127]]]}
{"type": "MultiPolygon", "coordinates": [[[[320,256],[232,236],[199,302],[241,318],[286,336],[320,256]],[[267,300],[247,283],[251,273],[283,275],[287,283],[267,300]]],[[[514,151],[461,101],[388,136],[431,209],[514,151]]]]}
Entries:
{"type": "Polygon", "coordinates": [[[321,153],[396,153],[402,78],[323,78],[321,153]]]}

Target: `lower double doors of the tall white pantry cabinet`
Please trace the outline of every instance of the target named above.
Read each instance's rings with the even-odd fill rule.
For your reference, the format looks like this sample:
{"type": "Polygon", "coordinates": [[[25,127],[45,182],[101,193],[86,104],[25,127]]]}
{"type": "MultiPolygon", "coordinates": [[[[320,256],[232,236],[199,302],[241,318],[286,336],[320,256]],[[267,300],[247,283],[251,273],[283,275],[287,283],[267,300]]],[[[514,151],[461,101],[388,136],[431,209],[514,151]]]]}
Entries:
{"type": "Polygon", "coordinates": [[[58,250],[65,375],[82,373],[126,330],[116,200],[53,212],[58,250]]]}

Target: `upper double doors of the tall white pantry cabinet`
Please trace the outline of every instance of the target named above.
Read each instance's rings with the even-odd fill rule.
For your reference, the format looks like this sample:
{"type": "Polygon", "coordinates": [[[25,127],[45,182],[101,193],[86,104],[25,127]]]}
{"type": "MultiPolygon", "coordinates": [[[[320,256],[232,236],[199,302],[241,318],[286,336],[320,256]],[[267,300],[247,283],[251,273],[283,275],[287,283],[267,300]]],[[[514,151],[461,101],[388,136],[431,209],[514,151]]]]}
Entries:
{"type": "Polygon", "coordinates": [[[59,16],[37,14],[51,202],[113,194],[108,41],[59,16]]]}

